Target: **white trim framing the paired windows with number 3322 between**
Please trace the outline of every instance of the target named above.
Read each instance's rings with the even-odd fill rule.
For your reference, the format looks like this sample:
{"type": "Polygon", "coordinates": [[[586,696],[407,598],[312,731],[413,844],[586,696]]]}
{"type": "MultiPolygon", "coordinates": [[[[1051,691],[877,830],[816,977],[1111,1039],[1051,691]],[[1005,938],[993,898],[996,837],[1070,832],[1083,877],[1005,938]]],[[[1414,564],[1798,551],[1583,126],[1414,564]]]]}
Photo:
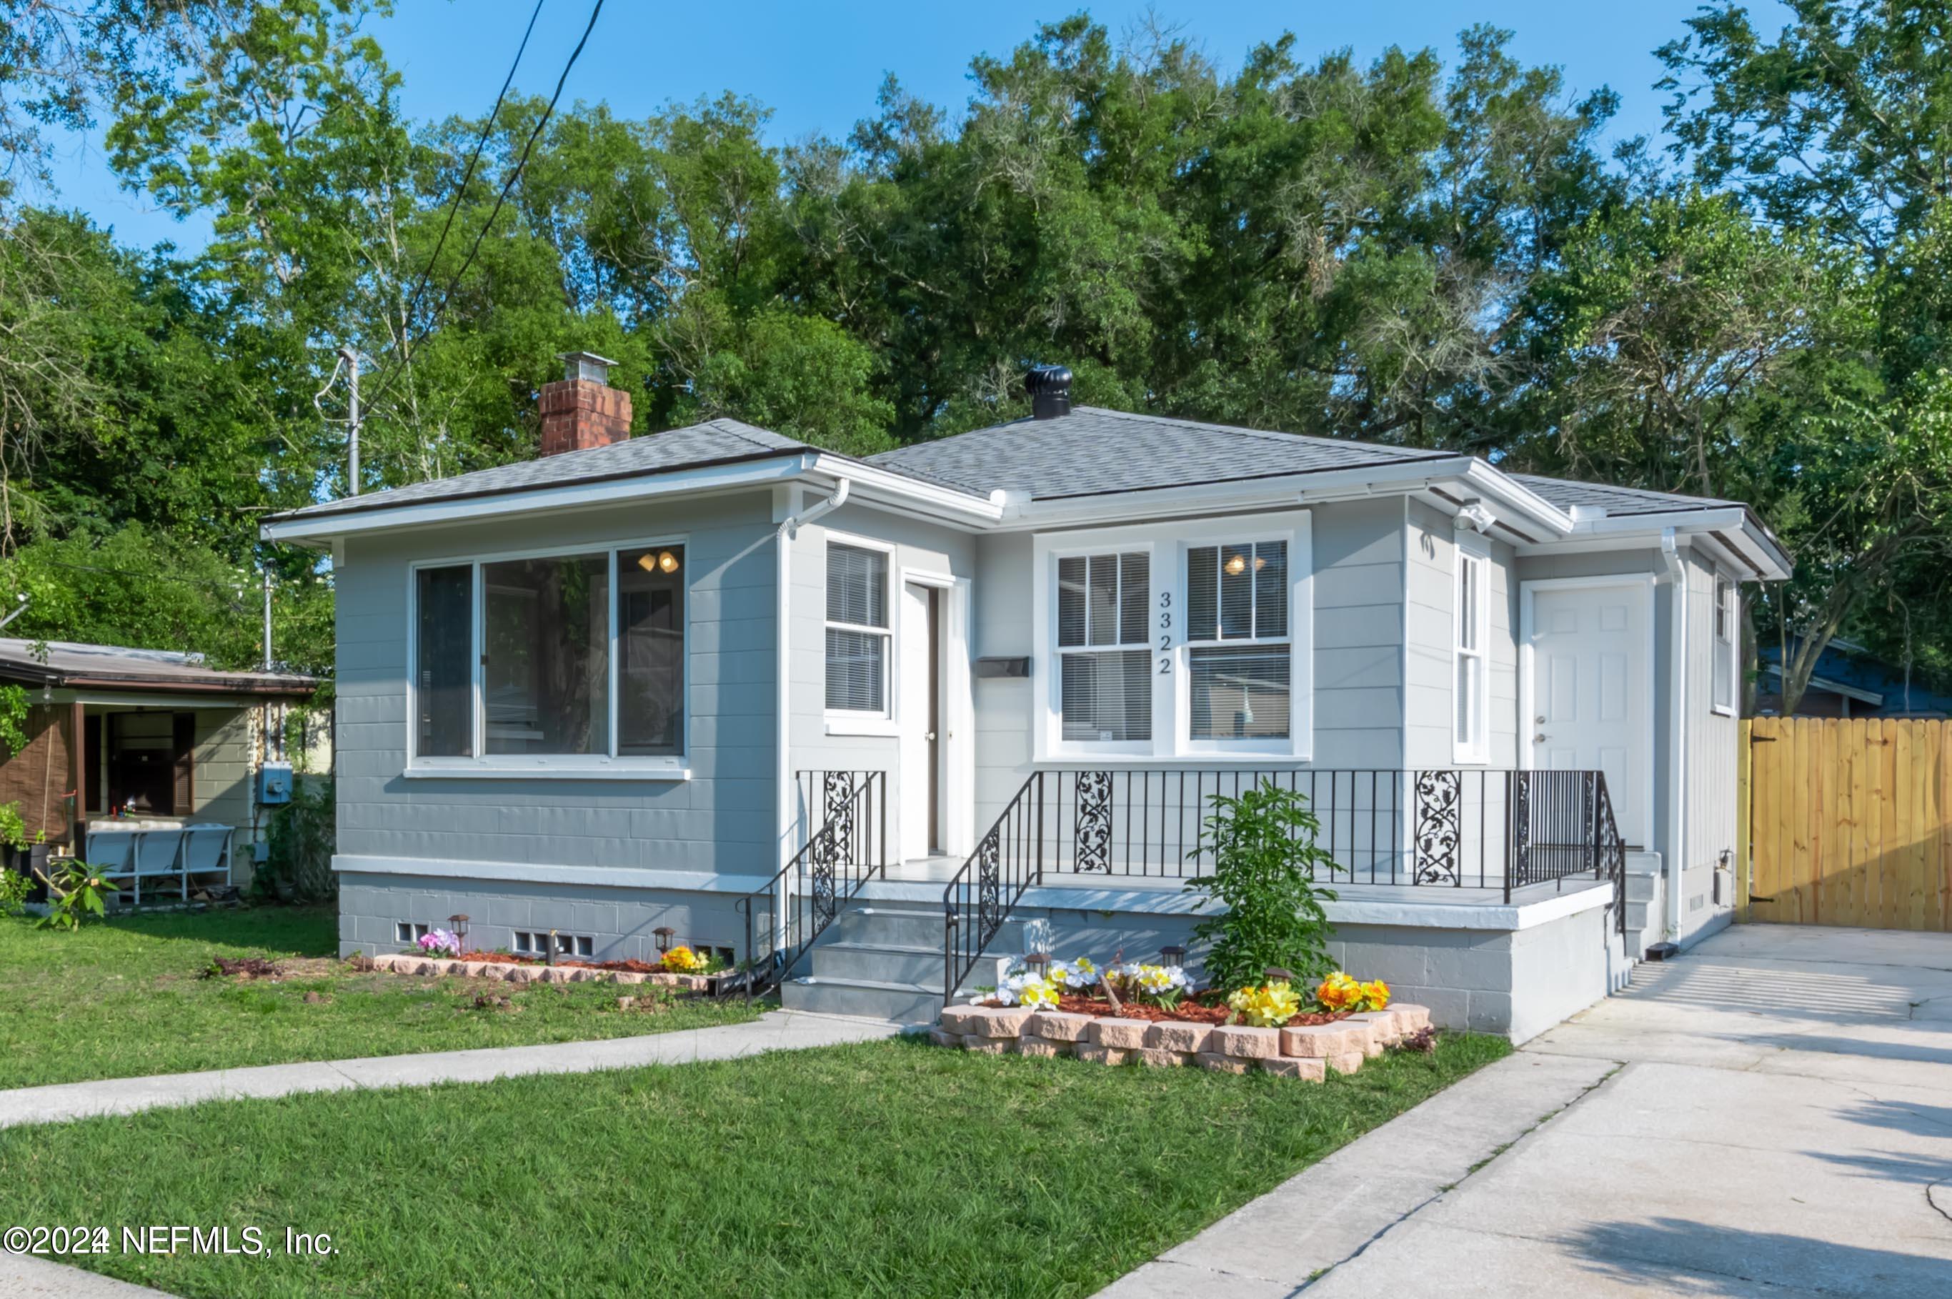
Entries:
{"type": "MultiPolygon", "coordinates": [[[[1144,764],[1159,760],[1236,762],[1261,758],[1308,762],[1314,754],[1314,551],[1308,510],[1251,514],[1232,520],[1142,524],[1089,531],[1038,533],[1033,539],[1031,635],[1037,647],[1033,680],[1033,760],[1144,764]],[[1191,740],[1187,684],[1185,568],[1199,545],[1240,541],[1288,543],[1288,736],[1281,740],[1191,740]],[[1152,740],[1064,740],[1062,674],[1058,670],[1058,561],[1074,555],[1144,551],[1152,574],[1148,623],[1152,633],[1152,740]],[[1161,604],[1169,596],[1169,604],[1161,604]],[[1161,627],[1161,613],[1171,625],[1161,627]],[[1161,666],[1165,670],[1161,670],[1161,666]]],[[[1247,641],[1241,641],[1245,645],[1247,641]]],[[[1103,647],[1099,647],[1103,649],[1103,647]]]]}

